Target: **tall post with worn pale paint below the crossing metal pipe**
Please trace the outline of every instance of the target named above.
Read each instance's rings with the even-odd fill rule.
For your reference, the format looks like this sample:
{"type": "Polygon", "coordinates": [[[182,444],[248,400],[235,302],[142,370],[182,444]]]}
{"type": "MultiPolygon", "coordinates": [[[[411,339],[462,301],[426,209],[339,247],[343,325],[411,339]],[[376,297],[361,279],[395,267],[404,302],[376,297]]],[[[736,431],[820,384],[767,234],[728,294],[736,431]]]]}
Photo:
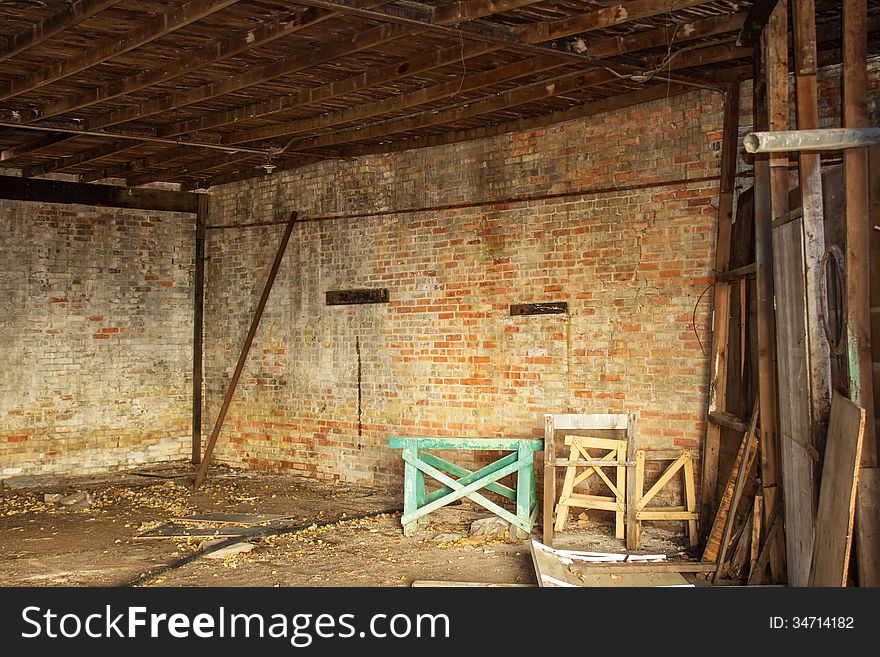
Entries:
{"type": "MultiPolygon", "coordinates": [[[[797,127],[819,128],[816,82],[815,0],[792,2],[794,70],[797,85],[797,127]]],[[[819,153],[798,153],[804,221],[804,264],[807,287],[807,345],[810,358],[811,444],[821,451],[831,412],[831,352],[821,324],[821,265],[825,255],[825,222],[822,205],[822,170],[819,153]]],[[[773,505],[765,499],[767,507],[773,505]]],[[[815,502],[814,502],[815,504],[815,502]]]]}

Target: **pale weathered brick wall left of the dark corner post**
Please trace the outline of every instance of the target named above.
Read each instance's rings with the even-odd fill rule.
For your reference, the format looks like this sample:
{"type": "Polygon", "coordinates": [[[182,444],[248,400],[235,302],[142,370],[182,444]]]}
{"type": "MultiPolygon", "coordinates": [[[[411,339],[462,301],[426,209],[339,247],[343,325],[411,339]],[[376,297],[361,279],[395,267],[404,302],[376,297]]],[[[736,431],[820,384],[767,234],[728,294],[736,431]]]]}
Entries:
{"type": "Polygon", "coordinates": [[[0,201],[0,478],[187,454],[193,218],[0,201]]]}

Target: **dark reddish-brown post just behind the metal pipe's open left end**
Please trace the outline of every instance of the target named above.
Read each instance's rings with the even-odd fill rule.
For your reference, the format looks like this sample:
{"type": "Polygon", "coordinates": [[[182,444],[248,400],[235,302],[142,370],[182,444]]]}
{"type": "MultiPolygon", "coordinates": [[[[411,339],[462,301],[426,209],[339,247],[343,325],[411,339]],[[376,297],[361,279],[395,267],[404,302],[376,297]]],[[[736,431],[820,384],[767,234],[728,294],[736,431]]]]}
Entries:
{"type": "MultiPolygon", "coordinates": [[[[767,31],[755,49],[754,129],[766,130],[767,118],[767,31]]],[[[758,405],[761,417],[761,479],[764,497],[773,507],[779,486],[776,445],[776,320],[773,309],[773,245],[770,195],[770,159],[755,156],[755,277],[758,311],[758,405]]],[[[782,581],[784,546],[771,546],[770,571],[782,581]]]]}

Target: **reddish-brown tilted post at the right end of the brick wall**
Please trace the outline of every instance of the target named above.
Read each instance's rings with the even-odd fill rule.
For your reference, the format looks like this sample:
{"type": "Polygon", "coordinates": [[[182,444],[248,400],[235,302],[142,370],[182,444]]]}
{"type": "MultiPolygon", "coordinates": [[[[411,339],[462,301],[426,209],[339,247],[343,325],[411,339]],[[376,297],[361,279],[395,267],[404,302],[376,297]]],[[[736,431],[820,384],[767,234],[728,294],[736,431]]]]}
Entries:
{"type": "MultiPolygon", "coordinates": [[[[739,141],[739,83],[728,84],[724,94],[724,136],[721,142],[721,182],[718,197],[718,237],[715,243],[715,274],[730,267],[733,190],[736,181],[736,149],[739,141]]],[[[709,361],[708,413],[727,410],[727,361],[730,327],[730,282],[715,281],[712,311],[712,351],[709,361]]],[[[721,427],[706,422],[700,487],[700,532],[705,538],[717,506],[718,455],[721,427]]]]}

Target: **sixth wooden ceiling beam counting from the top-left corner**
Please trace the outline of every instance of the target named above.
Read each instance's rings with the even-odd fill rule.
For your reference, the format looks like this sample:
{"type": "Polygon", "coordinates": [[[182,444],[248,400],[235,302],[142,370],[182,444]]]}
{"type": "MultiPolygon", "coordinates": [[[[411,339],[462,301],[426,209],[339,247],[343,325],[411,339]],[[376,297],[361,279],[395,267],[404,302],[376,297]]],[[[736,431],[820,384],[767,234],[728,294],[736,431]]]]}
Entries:
{"type": "Polygon", "coordinates": [[[477,91],[503,82],[516,80],[517,78],[536,75],[543,71],[559,68],[560,66],[566,66],[566,64],[560,62],[555,57],[533,57],[488,71],[473,73],[460,79],[449,80],[432,87],[424,87],[409,93],[389,96],[373,103],[357,105],[337,112],[311,116],[297,121],[242,130],[227,136],[222,142],[224,144],[242,144],[250,141],[271,139],[273,137],[284,137],[314,130],[323,130],[344,123],[365,121],[382,114],[399,112],[410,107],[435,102],[444,98],[454,98],[459,93],[477,91]]]}

